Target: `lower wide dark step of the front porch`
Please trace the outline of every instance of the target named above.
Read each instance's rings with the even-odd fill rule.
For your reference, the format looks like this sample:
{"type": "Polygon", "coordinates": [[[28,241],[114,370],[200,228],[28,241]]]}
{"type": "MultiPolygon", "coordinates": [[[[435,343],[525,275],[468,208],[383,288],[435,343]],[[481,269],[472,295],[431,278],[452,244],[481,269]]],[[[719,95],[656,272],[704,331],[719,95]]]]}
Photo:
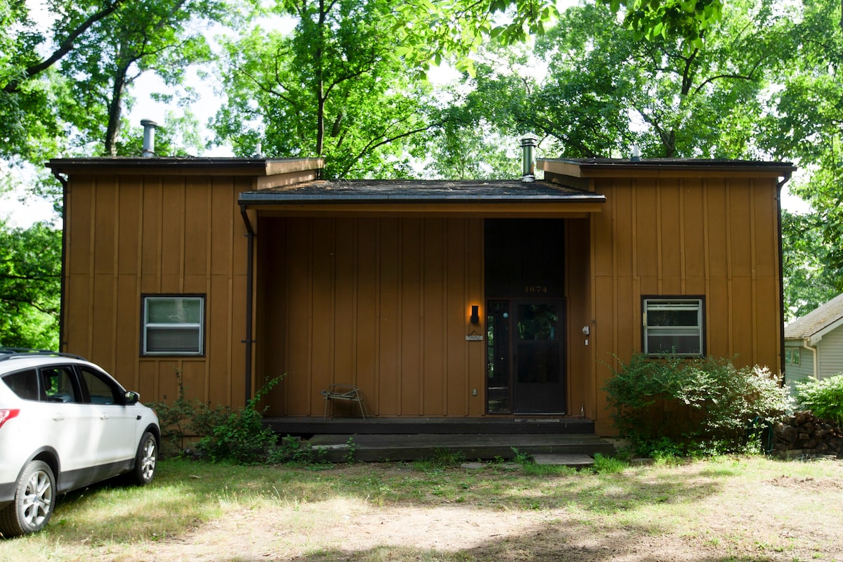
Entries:
{"type": "MultiPolygon", "coordinates": [[[[443,452],[459,452],[466,460],[514,458],[518,453],[535,455],[612,455],[615,446],[594,434],[564,435],[317,435],[309,439],[325,460],[414,461],[435,458],[443,452]]],[[[581,459],[582,460],[582,459],[581,459]]]]}

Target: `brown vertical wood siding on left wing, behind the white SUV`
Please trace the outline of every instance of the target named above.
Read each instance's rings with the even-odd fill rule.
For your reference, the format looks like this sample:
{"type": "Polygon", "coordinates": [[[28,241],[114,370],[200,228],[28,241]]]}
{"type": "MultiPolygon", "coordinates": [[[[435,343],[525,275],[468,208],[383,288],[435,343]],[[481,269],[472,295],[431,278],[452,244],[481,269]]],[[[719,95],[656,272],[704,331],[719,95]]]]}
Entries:
{"type": "Polygon", "coordinates": [[[237,176],[74,174],[67,185],[65,341],[144,401],[244,399],[245,229],[237,176]],[[143,357],[142,295],[201,294],[205,356],[143,357]],[[233,376],[233,373],[238,373],[233,376]]]}

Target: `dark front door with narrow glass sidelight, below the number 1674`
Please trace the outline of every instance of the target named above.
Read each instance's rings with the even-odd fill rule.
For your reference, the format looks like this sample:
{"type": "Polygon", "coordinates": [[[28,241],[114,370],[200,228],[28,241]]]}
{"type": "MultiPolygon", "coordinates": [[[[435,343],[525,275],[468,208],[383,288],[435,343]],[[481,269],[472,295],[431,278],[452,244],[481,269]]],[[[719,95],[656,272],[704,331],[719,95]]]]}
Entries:
{"type": "Polygon", "coordinates": [[[493,300],[486,310],[486,410],[565,414],[564,300],[493,300]]]}

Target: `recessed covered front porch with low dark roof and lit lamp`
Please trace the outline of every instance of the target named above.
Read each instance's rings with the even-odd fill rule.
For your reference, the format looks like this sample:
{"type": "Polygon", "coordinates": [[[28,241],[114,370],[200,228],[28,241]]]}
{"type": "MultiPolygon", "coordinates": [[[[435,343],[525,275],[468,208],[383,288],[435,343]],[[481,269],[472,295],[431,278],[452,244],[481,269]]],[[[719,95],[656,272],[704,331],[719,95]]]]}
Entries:
{"type": "Polygon", "coordinates": [[[521,427],[513,420],[593,414],[583,325],[590,216],[603,195],[544,182],[360,180],[239,202],[256,232],[255,383],[285,376],[266,396],[273,419],[318,426],[320,392],[336,383],[360,388],[368,415],[413,435],[440,433],[425,431],[443,427],[438,419],[521,427]]]}

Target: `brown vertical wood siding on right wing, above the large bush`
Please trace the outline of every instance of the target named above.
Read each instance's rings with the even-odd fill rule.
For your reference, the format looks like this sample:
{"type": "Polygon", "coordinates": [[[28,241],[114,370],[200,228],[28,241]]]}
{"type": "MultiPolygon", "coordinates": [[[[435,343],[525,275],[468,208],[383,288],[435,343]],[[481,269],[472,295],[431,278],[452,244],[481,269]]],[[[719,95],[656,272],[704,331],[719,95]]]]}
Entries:
{"type": "Polygon", "coordinates": [[[642,297],[703,297],[706,354],[778,372],[781,308],[772,179],[594,180],[592,215],[597,430],[611,430],[602,390],[642,351],[642,297]]]}

